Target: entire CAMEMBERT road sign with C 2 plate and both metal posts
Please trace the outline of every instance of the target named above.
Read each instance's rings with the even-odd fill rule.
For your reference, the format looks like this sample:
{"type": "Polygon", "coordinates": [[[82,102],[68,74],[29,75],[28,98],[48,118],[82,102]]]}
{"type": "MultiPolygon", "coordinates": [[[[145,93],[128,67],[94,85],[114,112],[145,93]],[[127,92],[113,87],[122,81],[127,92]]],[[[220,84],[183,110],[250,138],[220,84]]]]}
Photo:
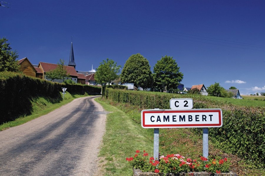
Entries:
{"type": "Polygon", "coordinates": [[[208,128],[223,125],[221,109],[191,109],[192,99],[171,99],[171,109],[141,112],[143,128],[154,128],[154,158],[159,159],[159,128],[203,128],[203,157],[208,159],[208,128]]]}

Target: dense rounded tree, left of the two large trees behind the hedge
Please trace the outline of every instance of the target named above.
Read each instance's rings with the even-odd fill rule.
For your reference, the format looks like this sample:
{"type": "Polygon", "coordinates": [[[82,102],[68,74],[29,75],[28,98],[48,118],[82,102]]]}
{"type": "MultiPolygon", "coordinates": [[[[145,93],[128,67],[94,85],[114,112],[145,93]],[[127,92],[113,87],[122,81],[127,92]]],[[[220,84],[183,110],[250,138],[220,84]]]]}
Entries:
{"type": "Polygon", "coordinates": [[[120,78],[122,83],[134,83],[135,87],[151,87],[153,77],[148,60],[140,53],[131,55],[124,64],[120,78]]]}

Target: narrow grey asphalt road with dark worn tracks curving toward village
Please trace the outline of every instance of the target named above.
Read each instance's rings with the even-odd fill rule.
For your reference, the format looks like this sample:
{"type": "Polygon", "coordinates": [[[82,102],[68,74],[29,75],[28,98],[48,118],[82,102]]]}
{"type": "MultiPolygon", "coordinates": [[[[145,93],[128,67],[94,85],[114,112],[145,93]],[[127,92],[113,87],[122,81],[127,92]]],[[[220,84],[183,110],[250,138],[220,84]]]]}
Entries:
{"type": "Polygon", "coordinates": [[[0,175],[94,175],[107,112],[95,97],[0,132],[0,175]]]}

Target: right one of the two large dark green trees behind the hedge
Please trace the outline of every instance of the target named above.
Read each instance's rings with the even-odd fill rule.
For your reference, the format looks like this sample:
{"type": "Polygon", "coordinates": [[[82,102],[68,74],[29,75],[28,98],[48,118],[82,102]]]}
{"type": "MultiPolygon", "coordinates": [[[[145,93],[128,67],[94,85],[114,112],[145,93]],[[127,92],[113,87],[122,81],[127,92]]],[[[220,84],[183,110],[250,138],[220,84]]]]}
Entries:
{"type": "Polygon", "coordinates": [[[183,74],[173,57],[165,55],[154,66],[154,84],[158,89],[177,89],[183,74]]]}

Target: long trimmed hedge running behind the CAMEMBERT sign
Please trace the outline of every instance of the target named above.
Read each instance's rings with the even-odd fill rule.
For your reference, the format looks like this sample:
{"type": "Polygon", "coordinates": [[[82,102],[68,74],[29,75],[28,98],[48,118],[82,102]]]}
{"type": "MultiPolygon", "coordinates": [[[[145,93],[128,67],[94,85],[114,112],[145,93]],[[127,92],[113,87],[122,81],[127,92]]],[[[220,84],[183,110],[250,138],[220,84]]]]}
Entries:
{"type": "MultiPolygon", "coordinates": [[[[151,93],[106,89],[105,97],[111,101],[129,103],[140,109],[170,109],[172,98],[192,98],[193,108],[220,108],[223,111],[223,126],[209,128],[209,136],[218,148],[237,154],[259,167],[265,165],[265,107],[239,107],[233,104],[206,99],[201,95],[151,93]]],[[[195,129],[195,128],[193,128],[195,129]]],[[[194,130],[194,131],[202,131],[194,130]]]]}

